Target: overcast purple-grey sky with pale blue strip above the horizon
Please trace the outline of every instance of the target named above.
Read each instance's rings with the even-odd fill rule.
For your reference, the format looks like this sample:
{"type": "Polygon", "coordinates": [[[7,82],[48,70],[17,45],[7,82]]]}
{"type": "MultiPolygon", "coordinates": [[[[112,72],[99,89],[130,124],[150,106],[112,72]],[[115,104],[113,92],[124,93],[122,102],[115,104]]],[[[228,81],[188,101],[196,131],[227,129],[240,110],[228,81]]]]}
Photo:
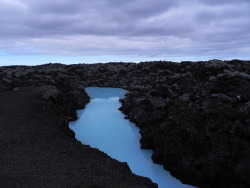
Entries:
{"type": "Polygon", "coordinates": [[[250,59],[250,0],[0,0],[0,65],[250,59]]]}

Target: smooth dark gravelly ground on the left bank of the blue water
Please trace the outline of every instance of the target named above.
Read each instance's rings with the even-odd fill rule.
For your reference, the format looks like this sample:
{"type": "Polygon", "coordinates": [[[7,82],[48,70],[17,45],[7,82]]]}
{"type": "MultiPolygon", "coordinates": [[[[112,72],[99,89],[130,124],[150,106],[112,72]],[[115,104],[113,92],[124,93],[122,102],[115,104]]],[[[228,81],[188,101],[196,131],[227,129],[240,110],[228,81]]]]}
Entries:
{"type": "Polygon", "coordinates": [[[59,95],[48,86],[0,92],[0,187],[157,187],[68,136],[59,95]]]}

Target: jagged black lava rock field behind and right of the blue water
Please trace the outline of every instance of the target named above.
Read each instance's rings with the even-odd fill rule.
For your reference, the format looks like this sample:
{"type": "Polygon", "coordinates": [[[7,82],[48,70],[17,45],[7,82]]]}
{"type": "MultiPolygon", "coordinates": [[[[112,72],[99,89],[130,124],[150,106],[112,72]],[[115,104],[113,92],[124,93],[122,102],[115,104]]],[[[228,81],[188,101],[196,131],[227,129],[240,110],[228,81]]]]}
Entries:
{"type": "Polygon", "coordinates": [[[88,102],[85,87],[127,89],[120,110],[140,127],[141,147],[153,150],[154,162],[199,187],[250,186],[249,61],[0,68],[0,94],[27,86],[60,111],[66,123],[56,129],[69,138],[68,121],[88,102]]]}

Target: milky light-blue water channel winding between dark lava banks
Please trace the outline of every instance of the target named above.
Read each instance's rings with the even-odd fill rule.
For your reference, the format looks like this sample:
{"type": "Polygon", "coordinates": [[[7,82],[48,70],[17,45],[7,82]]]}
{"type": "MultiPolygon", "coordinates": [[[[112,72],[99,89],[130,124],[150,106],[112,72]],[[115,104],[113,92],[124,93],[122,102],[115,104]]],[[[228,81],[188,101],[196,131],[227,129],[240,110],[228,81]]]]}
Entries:
{"type": "Polygon", "coordinates": [[[191,187],[172,177],[162,165],[154,164],[151,150],[140,149],[139,128],[118,110],[119,99],[126,90],[89,87],[86,92],[91,97],[90,103],[77,112],[79,119],[69,125],[77,140],[127,162],[133,173],[149,177],[159,188],[191,187]]]}

